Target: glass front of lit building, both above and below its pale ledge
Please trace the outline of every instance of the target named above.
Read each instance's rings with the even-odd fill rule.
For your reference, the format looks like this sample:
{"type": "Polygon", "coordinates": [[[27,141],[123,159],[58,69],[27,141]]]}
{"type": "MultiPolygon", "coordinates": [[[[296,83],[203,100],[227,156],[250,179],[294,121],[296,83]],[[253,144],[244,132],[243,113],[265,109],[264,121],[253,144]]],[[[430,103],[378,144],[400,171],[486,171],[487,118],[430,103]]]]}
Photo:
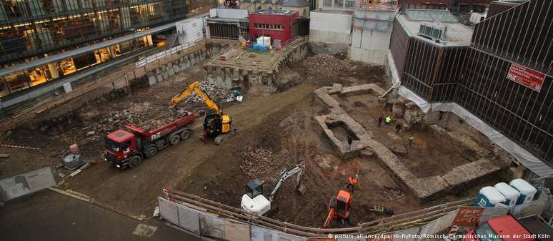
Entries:
{"type": "MultiPolygon", "coordinates": [[[[216,0],[0,0],[0,68],[169,24],[214,6],[216,0]]],[[[164,44],[146,35],[9,73],[0,76],[0,97],[164,44]]]]}

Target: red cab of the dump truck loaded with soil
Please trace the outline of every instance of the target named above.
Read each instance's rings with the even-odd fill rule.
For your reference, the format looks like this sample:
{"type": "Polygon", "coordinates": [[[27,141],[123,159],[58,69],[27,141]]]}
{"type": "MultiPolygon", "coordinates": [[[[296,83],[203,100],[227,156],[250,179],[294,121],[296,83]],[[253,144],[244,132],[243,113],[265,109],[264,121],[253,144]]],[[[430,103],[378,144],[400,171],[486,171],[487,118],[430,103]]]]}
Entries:
{"type": "Polygon", "coordinates": [[[106,135],[104,158],[117,168],[129,165],[131,155],[136,152],[136,136],[126,130],[116,130],[106,135]]]}

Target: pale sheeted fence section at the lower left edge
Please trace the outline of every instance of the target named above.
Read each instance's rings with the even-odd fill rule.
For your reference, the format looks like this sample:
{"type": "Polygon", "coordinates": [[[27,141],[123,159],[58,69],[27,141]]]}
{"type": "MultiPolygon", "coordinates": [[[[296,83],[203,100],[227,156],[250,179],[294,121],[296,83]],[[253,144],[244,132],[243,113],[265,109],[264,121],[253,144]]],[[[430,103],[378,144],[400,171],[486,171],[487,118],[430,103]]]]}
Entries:
{"type": "Polygon", "coordinates": [[[0,180],[0,200],[7,202],[55,185],[56,180],[54,180],[54,175],[52,175],[52,170],[49,167],[15,175],[0,180]]]}

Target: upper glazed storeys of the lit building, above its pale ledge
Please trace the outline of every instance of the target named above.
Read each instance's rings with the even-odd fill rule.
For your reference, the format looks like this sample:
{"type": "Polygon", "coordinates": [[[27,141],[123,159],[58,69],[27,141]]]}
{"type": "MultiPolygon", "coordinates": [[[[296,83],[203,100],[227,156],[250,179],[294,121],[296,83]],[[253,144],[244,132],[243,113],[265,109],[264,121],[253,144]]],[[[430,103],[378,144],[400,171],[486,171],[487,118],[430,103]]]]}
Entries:
{"type": "Polygon", "coordinates": [[[184,0],[3,0],[0,63],[184,18],[184,0]]]}

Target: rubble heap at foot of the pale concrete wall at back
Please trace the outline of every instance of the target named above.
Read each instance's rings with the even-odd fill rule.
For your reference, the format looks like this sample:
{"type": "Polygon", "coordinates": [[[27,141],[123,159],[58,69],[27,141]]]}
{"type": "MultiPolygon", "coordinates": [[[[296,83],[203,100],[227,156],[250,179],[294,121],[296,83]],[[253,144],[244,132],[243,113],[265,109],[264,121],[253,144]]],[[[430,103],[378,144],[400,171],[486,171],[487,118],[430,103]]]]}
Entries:
{"type": "Polygon", "coordinates": [[[335,75],[349,68],[349,61],[340,60],[327,53],[317,54],[304,59],[304,66],[310,72],[322,75],[335,75]]]}

